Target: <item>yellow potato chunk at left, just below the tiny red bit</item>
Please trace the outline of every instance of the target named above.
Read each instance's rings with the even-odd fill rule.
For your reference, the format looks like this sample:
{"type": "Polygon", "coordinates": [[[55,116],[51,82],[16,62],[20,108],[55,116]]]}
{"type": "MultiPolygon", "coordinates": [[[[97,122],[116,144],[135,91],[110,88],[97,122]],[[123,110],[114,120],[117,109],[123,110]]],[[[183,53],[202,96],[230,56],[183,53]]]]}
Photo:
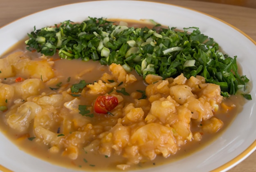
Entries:
{"type": "Polygon", "coordinates": [[[36,96],[39,94],[40,89],[43,88],[43,81],[41,79],[31,78],[20,83],[15,83],[13,86],[15,94],[26,99],[29,96],[36,96]]]}

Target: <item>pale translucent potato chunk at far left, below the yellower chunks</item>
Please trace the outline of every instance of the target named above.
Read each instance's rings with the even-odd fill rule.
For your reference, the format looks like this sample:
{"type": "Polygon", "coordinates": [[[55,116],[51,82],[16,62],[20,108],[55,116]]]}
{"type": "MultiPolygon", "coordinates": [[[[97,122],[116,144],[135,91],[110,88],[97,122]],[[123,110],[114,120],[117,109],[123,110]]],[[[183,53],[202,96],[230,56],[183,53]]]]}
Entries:
{"type": "Polygon", "coordinates": [[[11,111],[6,114],[7,124],[17,132],[25,133],[29,128],[30,121],[41,111],[42,108],[36,103],[25,102],[17,109],[11,109],[11,111]]]}

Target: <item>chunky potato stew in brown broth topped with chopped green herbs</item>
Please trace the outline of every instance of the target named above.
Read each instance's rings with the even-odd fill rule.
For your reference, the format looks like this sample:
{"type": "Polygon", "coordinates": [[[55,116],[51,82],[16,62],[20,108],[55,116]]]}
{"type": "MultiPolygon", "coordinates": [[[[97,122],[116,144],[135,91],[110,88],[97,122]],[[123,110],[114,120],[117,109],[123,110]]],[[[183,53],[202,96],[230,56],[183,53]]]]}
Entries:
{"type": "Polygon", "coordinates": [[[140,169],[213,140],[250,98],[236,58],[198,28],[120,23],[35,29],[29,51],[22,44],[1,58],[7,136],[76,169],[140,169]]]}

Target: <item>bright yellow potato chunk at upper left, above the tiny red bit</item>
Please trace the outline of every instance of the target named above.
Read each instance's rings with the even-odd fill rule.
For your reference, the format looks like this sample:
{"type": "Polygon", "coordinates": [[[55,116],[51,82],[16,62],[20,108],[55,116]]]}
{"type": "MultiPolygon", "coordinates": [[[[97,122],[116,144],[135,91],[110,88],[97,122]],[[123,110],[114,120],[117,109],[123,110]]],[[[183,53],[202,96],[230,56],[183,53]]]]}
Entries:
{"type": "Polygon", "coordinates": [[[45,82],[54,77],[54,71],[47,60],[21,58],[14,68],[16,73],[24,78],[38,78],[45,82]]]}

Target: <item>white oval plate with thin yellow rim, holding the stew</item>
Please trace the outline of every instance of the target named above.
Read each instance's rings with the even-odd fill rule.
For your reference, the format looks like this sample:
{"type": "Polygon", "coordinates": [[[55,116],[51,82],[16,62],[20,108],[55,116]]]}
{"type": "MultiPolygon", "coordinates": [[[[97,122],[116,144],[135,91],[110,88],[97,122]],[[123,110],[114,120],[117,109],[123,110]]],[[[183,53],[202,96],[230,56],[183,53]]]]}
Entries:
{"type": "MultiPolygon", "coordinates": [[[[248,39],[248,36],[238,29],[211,16],[187,8],[144,1],[93,1],[70,4],[34,13],[2,27],[0,29],[0,54],[24,38],[34,26],[39,29],[64,20],[81,22],[88,16],[153,19],[163,25],[180,29],[199,27],[203,34],[214,38],[229,56],[238,56],[237,60],[243,67],[243,74],[252,81],[253,100],[245,104],[243,112],[216,141],[184,159],[142,171],[205,172],[214,169],[225,171],[254,152],[256,149],[256,90],[254,88],[256,85],[256,42],[248,39]]],[[[22,152],[2,133],[0,133],[0,152],[0,165],[16,172],[72,171],[22,152]]]]}

